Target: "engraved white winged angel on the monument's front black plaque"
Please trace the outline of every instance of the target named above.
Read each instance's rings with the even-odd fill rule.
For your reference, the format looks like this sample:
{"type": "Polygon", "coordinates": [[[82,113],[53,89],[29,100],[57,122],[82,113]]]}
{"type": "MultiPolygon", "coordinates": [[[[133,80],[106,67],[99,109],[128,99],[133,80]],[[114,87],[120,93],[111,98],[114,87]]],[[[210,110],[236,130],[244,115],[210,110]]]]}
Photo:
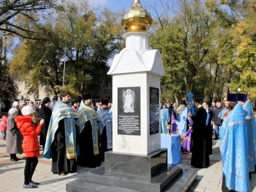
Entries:
{"type": "Polygon", "coordinates": [[[134,112],[134,91],[131,89],[123,90],[123,101],[124,101],[124,113],[133,113],[134,112]]]}

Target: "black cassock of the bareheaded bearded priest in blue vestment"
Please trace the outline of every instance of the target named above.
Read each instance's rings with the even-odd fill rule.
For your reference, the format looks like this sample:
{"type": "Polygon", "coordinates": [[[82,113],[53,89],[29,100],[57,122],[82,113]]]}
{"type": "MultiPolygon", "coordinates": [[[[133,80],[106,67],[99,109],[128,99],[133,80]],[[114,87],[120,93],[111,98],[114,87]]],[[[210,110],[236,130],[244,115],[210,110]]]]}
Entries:
{"type": "Polygon", "coordinates": [[[64,119],[59,121],[59,127],[54,135],[52,148],[52,172],[76,172],[76,159],[67,159],[66,135],[64,119]]]}

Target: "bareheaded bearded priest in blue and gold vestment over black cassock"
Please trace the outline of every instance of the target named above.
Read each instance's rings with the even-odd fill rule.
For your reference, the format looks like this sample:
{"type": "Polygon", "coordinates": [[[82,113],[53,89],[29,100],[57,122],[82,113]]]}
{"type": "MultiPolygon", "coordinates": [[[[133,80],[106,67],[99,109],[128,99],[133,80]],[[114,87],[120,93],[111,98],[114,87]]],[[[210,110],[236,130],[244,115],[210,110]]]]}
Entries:
{"type": "Polygon", "coordinates": [[[52,172],[66,175],[76,172],[76,157],[79,154],[77,145],[77,115],[70,104],[70,92],[61,91],[61,100],[53,108],[47,131],[44,157],[52,158],[52,172]]]}

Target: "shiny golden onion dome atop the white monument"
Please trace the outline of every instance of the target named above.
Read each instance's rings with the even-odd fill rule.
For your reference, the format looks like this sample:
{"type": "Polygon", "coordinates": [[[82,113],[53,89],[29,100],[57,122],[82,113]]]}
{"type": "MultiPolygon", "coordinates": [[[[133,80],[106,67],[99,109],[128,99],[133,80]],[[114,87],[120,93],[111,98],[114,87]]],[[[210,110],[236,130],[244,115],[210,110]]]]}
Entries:
{"type": "Polygon", "coordinates": [[[122,16],[122,25],[126,31],[147,31],[151,24],[151,15],[140,4],[140,0],[133,0],[132,6],[122,16]]]}

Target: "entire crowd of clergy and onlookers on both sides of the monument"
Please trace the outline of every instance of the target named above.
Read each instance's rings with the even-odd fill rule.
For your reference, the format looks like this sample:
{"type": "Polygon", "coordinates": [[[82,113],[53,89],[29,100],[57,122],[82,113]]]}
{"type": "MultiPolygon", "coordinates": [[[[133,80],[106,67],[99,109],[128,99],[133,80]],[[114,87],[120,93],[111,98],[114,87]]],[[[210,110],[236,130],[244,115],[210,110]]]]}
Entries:
{"type": "MultiPolygon", "coordinates": [[[[16,154],[25,153],[23,188],[36,188],[32,180],[38,163],[39,142],[43,156],[52,158],[53,174],[76,172],[76,166],[97,167],[104,161],[104,153],[112,149],[112,107],[108,98],[92,103],[85,93],[81,102],[72,102],[68,91],[60,92],[60,99],[44,98],[40,106],[31,102],[20,108],[14,102],[0,124],[2,140],[11,161],[19,161],[16,154]]],[[[192,153],[191,165],[206,168],[210,165],[212,140],[221,139],[220,152],[223,167],[222,191],[247,192],[251,172],[256,164],[256,122],[252,104],[246,94],[228,93],[221,102],[202,99],[188,103],[170,100],[160,103],[161,133],[172,125],[170,133],[181,135],[182,153],[192,153]],[[213,135],[215,129],[215,137],[213,135]]]]}

